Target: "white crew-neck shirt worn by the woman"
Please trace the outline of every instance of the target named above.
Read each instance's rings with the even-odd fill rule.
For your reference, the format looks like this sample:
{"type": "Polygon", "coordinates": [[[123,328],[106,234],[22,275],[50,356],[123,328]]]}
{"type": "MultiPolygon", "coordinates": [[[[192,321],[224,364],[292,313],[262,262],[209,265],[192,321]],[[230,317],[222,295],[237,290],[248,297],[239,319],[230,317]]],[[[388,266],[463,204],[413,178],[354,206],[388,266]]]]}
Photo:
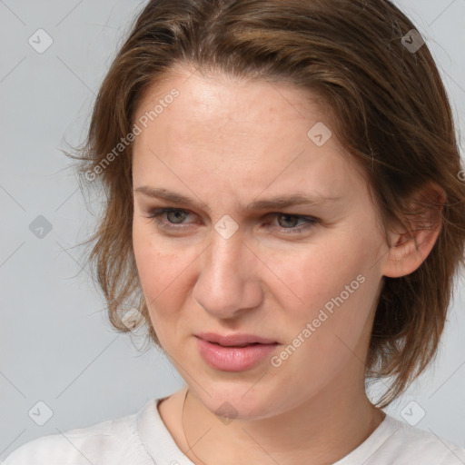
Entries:
{"type": "MultiPolygon", "coordinates": [[[[193,465],[148,401],[132,415],[26,442],[5,465],[193,465]]],[[[386,415],[371,436],[333,465],[463,465],[465,450],[386,415]]]]}

